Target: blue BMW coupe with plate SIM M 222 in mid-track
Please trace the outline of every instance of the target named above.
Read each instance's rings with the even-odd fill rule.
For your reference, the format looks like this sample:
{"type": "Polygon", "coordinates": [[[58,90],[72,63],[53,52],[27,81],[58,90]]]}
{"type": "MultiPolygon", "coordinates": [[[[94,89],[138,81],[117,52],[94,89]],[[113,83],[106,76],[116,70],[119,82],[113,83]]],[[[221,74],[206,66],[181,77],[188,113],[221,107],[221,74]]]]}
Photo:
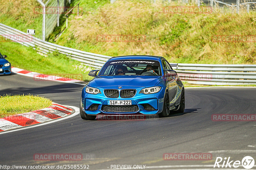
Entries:
{"type": "Polygon", "coordinates": [[[97,115],[168,117],[173,111],[184,112],[184,85],[164,57],[113,57],[89,75],[94,79],[84,86],[80,100],[84,120],[97,115]]]}

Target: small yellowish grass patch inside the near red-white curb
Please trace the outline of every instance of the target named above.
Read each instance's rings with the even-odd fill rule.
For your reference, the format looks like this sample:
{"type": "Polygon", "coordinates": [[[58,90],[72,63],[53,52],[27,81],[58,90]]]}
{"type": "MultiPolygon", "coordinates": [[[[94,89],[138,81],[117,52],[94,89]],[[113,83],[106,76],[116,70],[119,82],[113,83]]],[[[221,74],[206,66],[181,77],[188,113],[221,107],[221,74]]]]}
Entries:
{"type": "Polygon", "coordinates": [[[52,100],[33,95],[0,96],[0,117],[26,113],[52,105],[52,100]]]}

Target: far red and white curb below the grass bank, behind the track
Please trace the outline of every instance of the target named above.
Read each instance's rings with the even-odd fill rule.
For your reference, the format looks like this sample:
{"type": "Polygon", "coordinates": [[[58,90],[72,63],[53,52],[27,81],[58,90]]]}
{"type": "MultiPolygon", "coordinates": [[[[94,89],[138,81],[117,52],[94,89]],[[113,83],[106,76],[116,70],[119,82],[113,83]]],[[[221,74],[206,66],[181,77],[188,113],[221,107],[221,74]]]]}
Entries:
{"type": "MultiPolygon", "coordinates": [[[[70,79],[55,75],[47,75],[47,74],[41,74],[36,73],[28,70],[23,70],[21,68],[12,67],[12,72],[20,75],[25,75],[28,77],[33,77],[35,81],[59,81],[59,82],[65,82],[65,83],[75,83],[75,82],[83,82],[81,80],[76,79],[70,79]]],[[[80,84],[80,83],[79,83],[80,84]]]]}

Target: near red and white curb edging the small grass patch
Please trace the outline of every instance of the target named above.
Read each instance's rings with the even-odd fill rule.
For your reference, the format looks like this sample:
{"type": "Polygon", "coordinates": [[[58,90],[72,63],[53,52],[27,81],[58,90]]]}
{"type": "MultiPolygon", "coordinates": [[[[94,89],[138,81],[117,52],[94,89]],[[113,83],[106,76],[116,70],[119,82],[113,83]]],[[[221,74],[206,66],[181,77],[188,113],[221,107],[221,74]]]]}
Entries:
{"type": "Polygon", "coordinates": [[[52,103],[51,106],[44,109],[0,118],[0,132],[52,121],[72,113],[75,113],[74,109],[52,103]]]}

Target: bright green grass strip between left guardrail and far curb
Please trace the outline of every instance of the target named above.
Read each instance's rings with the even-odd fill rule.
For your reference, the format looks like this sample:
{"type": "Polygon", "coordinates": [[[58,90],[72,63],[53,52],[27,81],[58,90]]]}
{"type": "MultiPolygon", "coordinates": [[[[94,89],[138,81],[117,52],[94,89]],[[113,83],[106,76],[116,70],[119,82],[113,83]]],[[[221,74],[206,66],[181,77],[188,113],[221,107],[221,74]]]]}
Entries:
{"type": "Polygon", "coordinates": [[[16,42],[2,43],[0,52],[8,56],[7,60],[11,62],[12,67],[83,81],[92,79],[88,73],[93,68],[84,66],[60,53],[51,53],[45,57],[36,53],[32,47],[22,46],[16,42]]]}

